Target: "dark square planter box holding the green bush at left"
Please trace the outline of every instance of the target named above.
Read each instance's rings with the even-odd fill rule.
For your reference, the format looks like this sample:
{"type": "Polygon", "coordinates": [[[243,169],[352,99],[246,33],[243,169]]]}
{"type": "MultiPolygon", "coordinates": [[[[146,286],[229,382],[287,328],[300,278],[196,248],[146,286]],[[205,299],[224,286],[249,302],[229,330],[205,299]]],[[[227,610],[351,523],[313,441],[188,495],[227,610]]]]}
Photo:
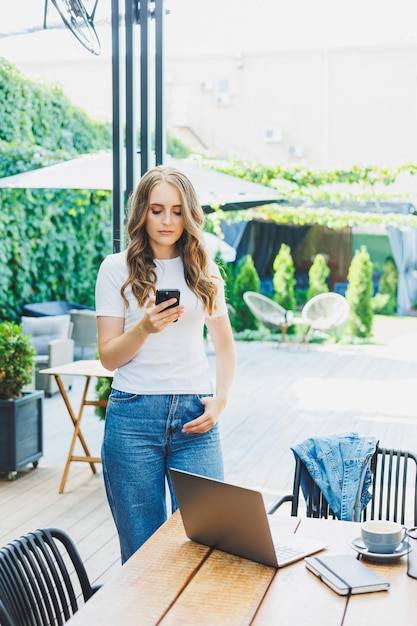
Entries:
{"type": "Polygon", "coordinates": [[[43,391],[28,391],[0,400],[0,471],[9,479],[43,456],[43,398],[43,391]]]}

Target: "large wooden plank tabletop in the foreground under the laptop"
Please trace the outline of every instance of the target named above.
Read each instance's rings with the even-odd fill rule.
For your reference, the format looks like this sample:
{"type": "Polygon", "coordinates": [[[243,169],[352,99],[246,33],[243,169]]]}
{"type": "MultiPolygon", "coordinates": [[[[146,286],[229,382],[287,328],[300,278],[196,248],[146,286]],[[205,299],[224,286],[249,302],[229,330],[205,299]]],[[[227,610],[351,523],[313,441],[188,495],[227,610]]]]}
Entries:
{"type": "MultiPolygon", "coordinates": [[[[277,518],[284,531],[325,538],[327,553],[356,555],[359,524],[277,518]]],[[[417,581],[406,558],[371,564],[389,591],[346,598],[309,572],[303,560],[275,570],[189,541],[175,513],[70,620],[71,626],[415,626],[417,581]]]]}

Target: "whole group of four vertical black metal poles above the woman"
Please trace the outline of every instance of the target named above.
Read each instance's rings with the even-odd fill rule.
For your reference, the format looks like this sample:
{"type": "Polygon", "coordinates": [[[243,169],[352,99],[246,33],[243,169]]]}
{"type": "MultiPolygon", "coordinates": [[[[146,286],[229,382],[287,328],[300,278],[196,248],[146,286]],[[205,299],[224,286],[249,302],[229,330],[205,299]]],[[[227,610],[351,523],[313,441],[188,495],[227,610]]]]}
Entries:
{"type": "Polygon", "coordinates": [[[137,184],[137,171],[142,176],[151,166],[151,128],[149,93],[150,22],[155,20],[155,163],[165,161],[164,120],[164,20],[165,0],[125,0],[125,116],[120,105],[121,51],[120,0],[112,0],[112,91],[113,91],[113,250],[123,249],[124,214],[128,198],[137,184]],[[136,146],[136,67],[135,29],[140,29],[140,146],[136,146]],[[126,128],[126,159],[123,163],[123,127],[126,128]],[[138,160],[140,161],[138,167],[138,160]],[[123,173],[125,172],[125,178],[123,173]],[[124,183],[124,184],[123,184],[124,183]]]}

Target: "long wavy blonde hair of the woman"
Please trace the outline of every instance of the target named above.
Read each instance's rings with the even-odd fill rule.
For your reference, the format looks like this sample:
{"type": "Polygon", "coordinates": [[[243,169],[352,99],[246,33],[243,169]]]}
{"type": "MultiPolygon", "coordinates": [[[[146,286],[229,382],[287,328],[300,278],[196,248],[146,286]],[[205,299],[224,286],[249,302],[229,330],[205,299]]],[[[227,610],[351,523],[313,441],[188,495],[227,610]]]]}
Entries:
{"type": "Polygon", "coordinates": [[[177,251],[183,261],[185,282],[202,301],[208,315],[212,315],[216,308],[219,279],[210,274],[210,257],[203,236],[204,212],[188,177],[176,168],[164,165],[146,172],[129,200],[128,277],[120,290],[122,298],[128,306],[124,292],[130,285],[142,307],[155,293],[156,264],[146,231],[146,218],[151,190],[162,182],[174,185],[181,198],[184,232],[177,241],[177,251]]]}

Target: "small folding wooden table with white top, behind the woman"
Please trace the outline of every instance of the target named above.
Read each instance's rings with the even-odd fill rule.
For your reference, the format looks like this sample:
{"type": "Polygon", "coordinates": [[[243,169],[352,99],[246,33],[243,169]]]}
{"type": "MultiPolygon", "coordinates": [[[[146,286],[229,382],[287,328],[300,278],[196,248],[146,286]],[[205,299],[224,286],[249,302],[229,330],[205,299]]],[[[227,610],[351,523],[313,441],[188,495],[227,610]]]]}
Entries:
{"type": "Polygon", "coordinates": [[[106,370],[99,360],[86,360],[86,361],[73,361],[72,363],[66,363],[65,365],[59,365],[57,367],[50,367],[48,369],[40,370],[41,374],[49,374],[50,376],[54,376],[56,383],[58,385],[58,389],[61,393],[61,396],[65,402],[65,406],[67,407],[69,416],[74,425],[74,433],[71,439],[71,445],[68,452],[67,461],[65,463],[64,473],[62,475],[61,484],[59,486],[59,493],[63,493],[65,488],[65,483],[67,481],[68,472],[70,468],[70,463],[72,461],[81,461],[84,463],[89,463],[92,472],[95,474],[97,472],[94,463],[101,463],[101,459],[99,457],[93,457],[90,454],[87,443],[84,439],[83,433],[81,431],[81,420],[83,416],[83,411],[85,406],[106,406],[106,400],[87,400],[87,393],[90,386],[90,381],[94,377],[105,376],[107,378],[113,377],[113,372],[106,370]],[[85,376],[85,385],[81,398],[81,403],[78,409],[77,414],[71,406],[71,403],[68,398],[67,391],[62,382],[61,376],[85,376]],[[84,456],[74,455],[75,444],[77,443],[77,439],[79,439],[83,450],[85,452],[84,456]]]}

